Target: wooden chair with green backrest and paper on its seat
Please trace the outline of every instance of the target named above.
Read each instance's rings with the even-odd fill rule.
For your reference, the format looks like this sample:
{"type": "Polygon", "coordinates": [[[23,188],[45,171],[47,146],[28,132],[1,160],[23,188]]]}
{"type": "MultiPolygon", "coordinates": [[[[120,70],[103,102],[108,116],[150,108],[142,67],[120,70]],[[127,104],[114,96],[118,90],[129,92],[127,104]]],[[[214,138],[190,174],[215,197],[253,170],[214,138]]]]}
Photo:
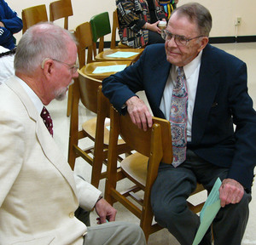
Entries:
{"type": "Polygon", "coordinates": [[[111,26],[109,21],[108,12],[102,14],[96,14],[90,18],[90,26],[92,32],[92,40],[94,42],[94,54],[95,60],[132,60],[137,61],[140,55],[143,53],[144,48],[113,48],[104,51],[104,37],[111,33],[111,26]],[[96,52],[96,43],[99,40],[98,52],[96,52]],[[108,54],[113,54],[115,52],[136,52],[137,54],[129,58],[113,58],[108,57],[108,54]]]}

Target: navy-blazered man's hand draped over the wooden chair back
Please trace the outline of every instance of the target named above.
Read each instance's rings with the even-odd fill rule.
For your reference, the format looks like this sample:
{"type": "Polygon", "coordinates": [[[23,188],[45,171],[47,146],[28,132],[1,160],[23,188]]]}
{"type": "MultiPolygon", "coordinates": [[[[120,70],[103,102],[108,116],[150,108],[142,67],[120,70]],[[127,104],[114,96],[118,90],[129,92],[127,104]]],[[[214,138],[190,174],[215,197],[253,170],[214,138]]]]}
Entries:
{"type": "Polygon", "coordinates": [[[148,128],[152,127],[152,116],[143,100],[133,96],[126,100],[125,104],[127,105],[131,121],[137,124],[138,128],[143,128],[144,131],[147,131],[148,128]]]}

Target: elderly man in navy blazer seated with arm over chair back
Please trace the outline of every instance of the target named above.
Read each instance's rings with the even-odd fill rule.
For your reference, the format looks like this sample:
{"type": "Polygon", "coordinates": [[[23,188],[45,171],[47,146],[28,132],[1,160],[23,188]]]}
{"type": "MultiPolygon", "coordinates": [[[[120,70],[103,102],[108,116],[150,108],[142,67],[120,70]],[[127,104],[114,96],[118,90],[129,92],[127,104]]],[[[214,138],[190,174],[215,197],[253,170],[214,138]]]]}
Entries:
{"type": "MultiPolygon", "coordinates": [[[[155,117],[169,120],[175,109],[172,98],[177,68],[183,70],[183,88],[188,95],[184,159],[178,166],[160,163],[151,203],[156,221],[178,242],[188,245],[200,220],[189,211],[186,199],[197,182],[211,191],[218,177],[222,180],[222,208],[212,222],[214,242],[241,244],[255,167],[256,114],[247,94],[247,66],[208,44],[211,28],[212,16],[201,4],[177,8],[163,33],[165,45],[148,46],[137,63],[102,83],[113,106],[120,113],[128,111],[132,121],[147,130],[152,116],[137,91],[145,91],[155,117]]],[[[173,130],[172,134],[174,142],[179,132],[173,130]]],[[[201,244],[211,244],[210,230],[201,244]]]]}

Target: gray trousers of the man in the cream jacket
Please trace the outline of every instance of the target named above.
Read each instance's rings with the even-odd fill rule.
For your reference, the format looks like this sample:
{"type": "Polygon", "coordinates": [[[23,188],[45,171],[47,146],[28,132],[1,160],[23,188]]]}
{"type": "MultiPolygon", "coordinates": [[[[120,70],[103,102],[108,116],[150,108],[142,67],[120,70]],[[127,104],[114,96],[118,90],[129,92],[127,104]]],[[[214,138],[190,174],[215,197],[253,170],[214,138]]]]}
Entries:
{"type": "Polygon", "coordinates": [[[139,225],[126,222],[109,222],[87,227],[84,245],[146,245],[139,225]]]}

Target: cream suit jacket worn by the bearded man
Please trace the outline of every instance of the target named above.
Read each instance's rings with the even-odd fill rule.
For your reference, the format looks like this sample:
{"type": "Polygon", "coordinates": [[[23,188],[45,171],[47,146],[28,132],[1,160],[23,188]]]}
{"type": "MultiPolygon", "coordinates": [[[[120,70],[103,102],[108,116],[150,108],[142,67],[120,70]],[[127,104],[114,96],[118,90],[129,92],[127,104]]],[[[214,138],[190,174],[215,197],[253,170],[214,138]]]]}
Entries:
{"type": "Polygon", "coordinates": [[[83,244],[74,212],[101,191],[73,174],[17,77],[0,85],[0,139],[0,244],[83,244]]]}

